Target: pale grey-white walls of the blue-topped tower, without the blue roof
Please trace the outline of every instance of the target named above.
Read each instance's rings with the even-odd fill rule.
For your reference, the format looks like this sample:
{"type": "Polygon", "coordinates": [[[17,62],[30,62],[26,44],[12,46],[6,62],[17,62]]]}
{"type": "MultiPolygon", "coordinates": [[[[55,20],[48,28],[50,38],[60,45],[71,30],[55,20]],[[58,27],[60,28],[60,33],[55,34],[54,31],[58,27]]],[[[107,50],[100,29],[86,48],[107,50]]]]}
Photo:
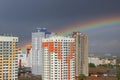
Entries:
{"type": "Polygon", "coordinates": [[[41,32],[32,34],[32,74],[34,75],[42,75],[43,73],[41,39],[44,36],[41,32]]]}

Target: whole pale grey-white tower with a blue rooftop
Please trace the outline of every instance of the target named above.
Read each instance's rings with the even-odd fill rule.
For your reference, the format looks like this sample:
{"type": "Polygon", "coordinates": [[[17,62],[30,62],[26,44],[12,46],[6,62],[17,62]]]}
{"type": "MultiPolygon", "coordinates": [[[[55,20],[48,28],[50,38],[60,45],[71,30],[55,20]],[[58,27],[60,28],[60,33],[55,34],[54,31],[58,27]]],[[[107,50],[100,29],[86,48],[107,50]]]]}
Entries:
{"type": "Polygon", "coordinates": [[[32,74],[43,74],[43,51],[42,38],[49,37],[51,32],[46,28],[38,28],[36,32],[32,33],[32,74]]]}

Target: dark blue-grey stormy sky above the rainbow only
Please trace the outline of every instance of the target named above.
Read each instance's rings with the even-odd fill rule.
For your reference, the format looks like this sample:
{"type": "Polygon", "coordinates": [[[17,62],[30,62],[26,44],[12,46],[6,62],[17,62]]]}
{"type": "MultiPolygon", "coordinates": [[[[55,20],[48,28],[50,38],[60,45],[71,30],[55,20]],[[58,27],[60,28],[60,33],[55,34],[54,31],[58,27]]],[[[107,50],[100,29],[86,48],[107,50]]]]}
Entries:
{"type": "Polygon", "coordinates": [[[22,42],[30,39],[38,26],[56,30],[89,18],[119,14],[119,4],[120,0],[0,0],[0,33],[19,36],[22,42]]]}

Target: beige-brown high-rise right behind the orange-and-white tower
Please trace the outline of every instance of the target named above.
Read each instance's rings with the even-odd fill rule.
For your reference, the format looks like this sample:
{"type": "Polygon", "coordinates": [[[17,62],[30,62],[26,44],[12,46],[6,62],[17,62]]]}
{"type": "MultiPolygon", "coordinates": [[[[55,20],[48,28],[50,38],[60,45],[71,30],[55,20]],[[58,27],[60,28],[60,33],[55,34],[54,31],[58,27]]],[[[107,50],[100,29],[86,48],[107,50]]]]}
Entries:
{"type": "Polygon", "coordinates": [[[88,36],[80,32],[73,32],[75,39],[75,76],[88,76],[88,36]]]}

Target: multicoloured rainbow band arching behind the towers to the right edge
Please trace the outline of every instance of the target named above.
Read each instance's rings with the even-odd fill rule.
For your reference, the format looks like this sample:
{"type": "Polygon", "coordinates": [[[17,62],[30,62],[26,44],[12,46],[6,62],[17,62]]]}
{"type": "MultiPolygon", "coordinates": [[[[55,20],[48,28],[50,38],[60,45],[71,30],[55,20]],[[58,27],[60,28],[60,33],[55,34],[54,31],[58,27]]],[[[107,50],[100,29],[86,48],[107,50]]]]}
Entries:
{"type": "Polygon", "coordinates": [[[68,26],[64,28],[63,30],[59,30],[57,32],[59,32],[58,34],[60,35],[68,35],[74,31],[97,32],[100,29],[109,30],[112,28],[116,28],[115,26],[120,28],[120,16],[101,18],[101,19],[91,20],[89,22],[73,24],[72,26],[68,26]]]}

